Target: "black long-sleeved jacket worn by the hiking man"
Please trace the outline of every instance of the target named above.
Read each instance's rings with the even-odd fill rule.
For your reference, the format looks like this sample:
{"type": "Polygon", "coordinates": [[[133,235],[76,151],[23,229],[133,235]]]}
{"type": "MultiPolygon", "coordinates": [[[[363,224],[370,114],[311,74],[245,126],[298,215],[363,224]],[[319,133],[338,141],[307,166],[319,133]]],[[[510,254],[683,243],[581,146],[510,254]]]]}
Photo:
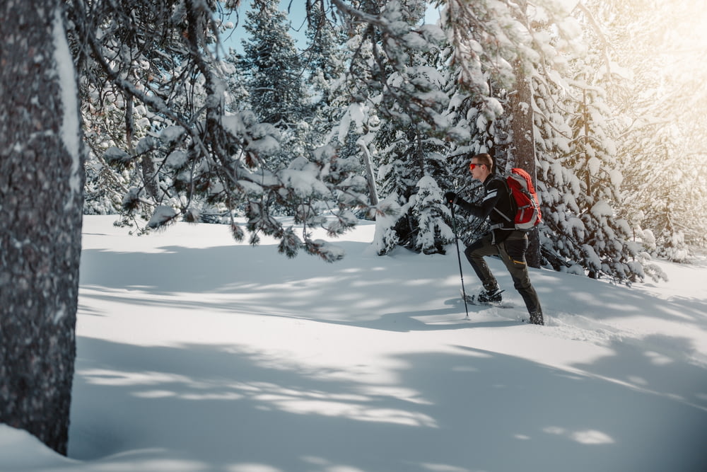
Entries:
{"type": "Polygon", "coordinates": [[[510,200],[510,191],[506,179],[497,174],[489,175],[484,180],[484,200],[481,205],[466,202],[457,197],[455,203],[464,210],[474,215],[474,217],[489,218],[489,224],[493,229],[493,243],[498,244],[505,241],[511,231],[515,230],[513,217],[515,217],[515,207],[510,200]],[[504,218],[503,215],[506,217],[504,218]]]}

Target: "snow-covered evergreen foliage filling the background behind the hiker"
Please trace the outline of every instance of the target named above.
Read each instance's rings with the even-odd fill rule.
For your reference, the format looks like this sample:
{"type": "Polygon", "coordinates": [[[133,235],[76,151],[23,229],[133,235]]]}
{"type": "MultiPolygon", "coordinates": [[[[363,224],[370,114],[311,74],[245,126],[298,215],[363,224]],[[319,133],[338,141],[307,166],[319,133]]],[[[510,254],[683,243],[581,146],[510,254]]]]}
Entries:
{"type": "MultiPolygon", "coordinates": [[[[137,26],[115,4],[79,4],[90,6],[92,21],[109,19],[97,23],[103,30],[96,42],[115,58],[102,62],[90,47],[76,50],[90,98],[83,100],[86,212],[124,208],[150,219],[163,207],[153,221],[160,226],[258,212],[304,217],[309,213],[297,210],[303,202],[328,211],[341,203],[337,192],[302,200],[286,175],[300,169],[300,158],[316,163],[315,149],[328,145],[325,154],[356,175],[358,204],[377,219],[378,253],[399,245],[443,252],[453,235],[441,193],[477,198],[480,186],[467,168],[473,154],[491,152],[499,171],[527,158],[517,155],[514,120],[518,107],[530,107],[535,159],[523,166],[533,173],[537,164],[545,265],[629,282],[656,275],[648,253],[685,260],[690,244],[705,243],[703,225],[689,217],[706,205],[699,185],[705,164],[683,157],[699,154],[685,144],[702,139],[699,120],[644,92],[689,79],[632,59],[655,42],[626,40],[631,31],[648,38],[661,28],[648,8],[636,11],[621,0],[584,0],[572,11],[550,0],[532,8],[525,1],[439,0],[440,25],[429,25],[420,0],[311,0],[307,44],[298,51],[280,2],[255,0],[245,13],[243,56],[221,60],[209,51],[224,25],[189,13],[192,2],[142,6],[137,26]],[[129,27],[110,26],[120,22],[129,27]],[[190,30],[192,23],[199,28],[190,30]],[[521,82],[530,85],[531,103],[517,103],[521,82]],[[155,97],[173,115],[160,111],[155,97]],[[229,132],[236,130],[234,139],[229,132]],[[229,159],[245,163],[247,178],[233,181],[229,159]],[[669,175],[659,171],[665,166],[669,175]],[[262,185],[275,180],[285,189],[262,185]]],[[[670,22],[685,19],[686,8],[657,5],[670,22]]],[[[322,172],[312,175],[334,188],[322,172]]],[[[462,240],[485,230],[457,218],[462,240]]]]}

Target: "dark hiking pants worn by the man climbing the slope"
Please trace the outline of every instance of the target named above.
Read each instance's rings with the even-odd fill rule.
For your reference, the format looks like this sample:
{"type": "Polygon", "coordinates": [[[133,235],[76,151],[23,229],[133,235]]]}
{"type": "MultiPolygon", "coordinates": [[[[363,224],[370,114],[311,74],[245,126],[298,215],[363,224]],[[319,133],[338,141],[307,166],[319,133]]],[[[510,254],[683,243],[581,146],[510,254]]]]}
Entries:
{"type": "Polygon", "coordinates": [[[464,250],[464,255],[474,267],[474,272],[477,272],[484,289],[498,288],[496,277],[493,277],[484,257],[499,255],[510,272],[510,277],[513,278],[513,286],[525,301],[525,307],[530,313],[530,322],[542,324],[542,307],[537,293],[530,283],[530,275],[525,262],[525,251],[528,248],[527,235],[522,231],[513,231],[502,243],[493,244],[491,241],[493,241],[493,236],[488,234],[477,239],[464,250]]]}

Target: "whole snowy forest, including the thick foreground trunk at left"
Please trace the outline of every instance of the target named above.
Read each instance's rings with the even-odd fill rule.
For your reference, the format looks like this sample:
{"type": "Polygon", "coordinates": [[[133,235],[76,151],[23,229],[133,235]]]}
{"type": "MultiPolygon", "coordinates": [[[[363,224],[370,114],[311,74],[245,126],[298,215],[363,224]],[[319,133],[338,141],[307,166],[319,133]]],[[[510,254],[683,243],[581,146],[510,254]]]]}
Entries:
{"type": "Polygon", "coordinates": [[[488,152],[534,176],[533,267],[631,284],[707,244],[701,0],[35,3],[0,7],[0,420],[58,451],[62,421],[27,418],[69,408],[82,214],[227,224],[327,262],[313,229],[368,219],[379,255],[434,254],[486,231],[443,195],[474,201],[488,152]]]}

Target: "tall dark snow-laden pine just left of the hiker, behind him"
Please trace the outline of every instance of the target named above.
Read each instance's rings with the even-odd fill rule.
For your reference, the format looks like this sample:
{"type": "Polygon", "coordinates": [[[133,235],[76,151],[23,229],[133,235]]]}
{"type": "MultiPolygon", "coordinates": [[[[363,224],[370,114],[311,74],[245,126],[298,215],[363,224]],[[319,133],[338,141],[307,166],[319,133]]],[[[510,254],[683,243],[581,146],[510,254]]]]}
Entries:
{"type": "Polygon", "coordinates": [[[443,35],[433,25],[419,25],[424,13],[420,1],[391,1],[375,16],[375,9],[366,13],[341,8],[352,18],[375,25],[358,31],[352,48],[349,73],[357,105],[348,110],[351,116],[375,108],[378,124],[373,139],[366,142],[379,166],[380,197],[400,209],[397,218],[378,220],[375,246],[380,254],[395,244],[424,253],[443,252],[453,239],[441,190],[448,188],[441,139],[451,127],[445,117],[449,100],[443,91],[445,77],[436,64],[443,35]]]}

